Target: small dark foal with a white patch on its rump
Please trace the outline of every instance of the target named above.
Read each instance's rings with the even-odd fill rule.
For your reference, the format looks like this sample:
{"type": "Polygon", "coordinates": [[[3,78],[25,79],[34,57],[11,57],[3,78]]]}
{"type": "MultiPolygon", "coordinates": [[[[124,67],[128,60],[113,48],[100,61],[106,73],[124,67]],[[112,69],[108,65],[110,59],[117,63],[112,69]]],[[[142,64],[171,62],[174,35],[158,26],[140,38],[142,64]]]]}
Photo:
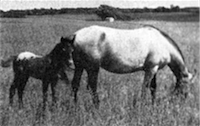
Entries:
{"type": "MultiPolygon", "coordinates": [[[[23,92],[29,77],[42,80],[43,91],[43,109],[47,100],[47,90],[49,84],[52,90],[53,103],[56,103],[55,86],[59,77],[68,81],[64,68],[68,56],[68,52],[62,49],[61,43],[57,44],[54,49],[45,56],[35,55],[31,52],[21,52],[18,55],[10,56],[7,60],[1,61],[2,67],[9,67],[13,64],[14,80],[10,87],[10,105],[13,104],[13,96],[15,90],[18,92],[19,108],[23,107],[23,92]]],[[[68,62],[69,63],[69,62],[68,62]]]]}

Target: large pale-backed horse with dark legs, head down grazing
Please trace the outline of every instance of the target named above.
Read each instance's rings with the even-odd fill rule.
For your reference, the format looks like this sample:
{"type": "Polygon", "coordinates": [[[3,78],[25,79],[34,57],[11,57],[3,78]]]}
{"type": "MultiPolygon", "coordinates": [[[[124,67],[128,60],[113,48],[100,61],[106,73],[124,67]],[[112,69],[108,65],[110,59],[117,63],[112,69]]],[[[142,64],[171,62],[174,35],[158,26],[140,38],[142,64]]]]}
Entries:
{"type": "Polygon", "coordinates": [[[177,44],[163,31],[144,26],[134,30],[114,29],[103,26],[90,26],[78,30],[73,35],[62,37],[65,48],[72,48],[75,65],[72,89],[74,100],[83,70],[88,74],[88,86],[92,90],[93,103],[99,106],[96,93],[99,68],[113,73],[144,71],[144,82],[140,96],[144,99],[149,87],[152,102],[155,99],[156,74],[168,65],[176,76],[175,90],[183,93],[182,80],[191,80],[183,54],[177,44]]]}

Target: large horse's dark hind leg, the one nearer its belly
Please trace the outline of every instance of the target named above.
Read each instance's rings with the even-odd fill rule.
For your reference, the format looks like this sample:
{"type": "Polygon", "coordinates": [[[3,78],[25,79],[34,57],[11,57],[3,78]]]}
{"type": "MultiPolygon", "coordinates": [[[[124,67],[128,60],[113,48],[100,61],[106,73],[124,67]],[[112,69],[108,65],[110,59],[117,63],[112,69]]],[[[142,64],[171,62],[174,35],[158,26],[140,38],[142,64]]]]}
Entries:
{"type": "Polygon", "coordinates": [[[97,94],[97,79],[98,79],[98,73],[99,73],[99,67],[92,67],[90,66],[89,69],[86,69],[88,73],[88,85],[91,88],[92,97],[93,97],[93,103],[96,108],[99,108],[99,97],[97,94]]]}

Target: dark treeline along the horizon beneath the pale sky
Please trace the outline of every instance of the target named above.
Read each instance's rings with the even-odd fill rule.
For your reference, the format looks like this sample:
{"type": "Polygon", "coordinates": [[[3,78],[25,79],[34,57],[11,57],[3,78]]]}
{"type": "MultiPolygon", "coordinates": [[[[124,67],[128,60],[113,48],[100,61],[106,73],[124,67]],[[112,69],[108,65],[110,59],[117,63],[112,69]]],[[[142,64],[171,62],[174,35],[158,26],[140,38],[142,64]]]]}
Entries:
{"type": "Polygon", "coordinates": [[[32,15],[56,15],[56,14],[97,14],[102,20],[106,17],[114,17],[118,20],[131,20],[130,14],[133,13],[159,13],[159,12],[189,12],[199,14],[198,7],[180,8],[179,6],[171,5],[170,8],[157,7],[157,8],[130,8],[122,9],[115,8],[108,5],[100,5],[98,8],[62,8],[62,9],[31,9],[31,10],[0,10],[0,17],[6,18],[25,18],[32,15]]]}

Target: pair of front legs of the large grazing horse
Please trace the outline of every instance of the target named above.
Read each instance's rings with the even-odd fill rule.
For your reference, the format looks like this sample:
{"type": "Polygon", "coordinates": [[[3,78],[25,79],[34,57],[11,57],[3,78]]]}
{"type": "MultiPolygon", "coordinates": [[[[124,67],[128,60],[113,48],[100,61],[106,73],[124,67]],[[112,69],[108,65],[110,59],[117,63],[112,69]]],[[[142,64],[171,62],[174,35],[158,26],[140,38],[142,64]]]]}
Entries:
{"type": "MultiPolygon", "coordinates": [[[[149,68],[149,69],[145,70],[144,82],[143,82],[142,91],[141,91],[141,98],[143,100],[146,98],[146,93],[147,93],[146,87],[150,88],[150,86],[152,86],[153,88],[156,88],[156,73],[157,73],[157,71],[158,71],[158,66],[154,66],[153,68],[149,68]]],[[[155,95],[155,89],[152,89],[151,91],[155,95]]],[[[152,98],[154,99],[155,97],[152,96],[152,98]]]]}

